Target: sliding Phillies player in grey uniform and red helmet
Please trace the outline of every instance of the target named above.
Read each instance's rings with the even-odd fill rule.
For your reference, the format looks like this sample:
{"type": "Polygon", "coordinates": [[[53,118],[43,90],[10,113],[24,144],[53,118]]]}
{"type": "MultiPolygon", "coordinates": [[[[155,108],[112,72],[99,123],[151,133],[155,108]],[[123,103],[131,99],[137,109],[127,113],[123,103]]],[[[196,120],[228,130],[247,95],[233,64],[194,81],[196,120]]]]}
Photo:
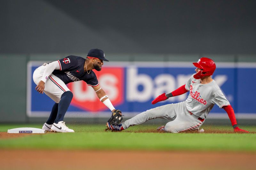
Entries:
{"type": "Polygon", "coordinates": [[[119,125],[108,122],[106,124],[107,128],[112,131],[121,131],[150,119],[162,118],[168,119],[170,122],[166,123],[165,126],[158,127],[157,131],[159,132],[179,133],[187,130],[198,130],[200,132],[200,126],[216,104],[227,112],[235,132],[248,133],[248,131],[238,128],[233,108],[220,87],[211,78],[216,69],[214,61],[202,57],[197,63],[193,64],[196,66],[196,73],[189,78],[185,85],[169,94],[161,94],[152,101],[152,104],[189,91],[187,100],[149,109],[119,125]]]}

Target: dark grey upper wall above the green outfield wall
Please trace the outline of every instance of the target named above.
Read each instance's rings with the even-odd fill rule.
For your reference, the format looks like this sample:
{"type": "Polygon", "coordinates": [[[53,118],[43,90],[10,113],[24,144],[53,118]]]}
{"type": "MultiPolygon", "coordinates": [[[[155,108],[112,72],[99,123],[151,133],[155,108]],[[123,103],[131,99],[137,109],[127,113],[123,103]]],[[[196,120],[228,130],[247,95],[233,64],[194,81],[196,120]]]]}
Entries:
{"type": "Polygon", "coordinates": [[[2,53],[256,52],[253,0],[0,2],[2,53]]]}

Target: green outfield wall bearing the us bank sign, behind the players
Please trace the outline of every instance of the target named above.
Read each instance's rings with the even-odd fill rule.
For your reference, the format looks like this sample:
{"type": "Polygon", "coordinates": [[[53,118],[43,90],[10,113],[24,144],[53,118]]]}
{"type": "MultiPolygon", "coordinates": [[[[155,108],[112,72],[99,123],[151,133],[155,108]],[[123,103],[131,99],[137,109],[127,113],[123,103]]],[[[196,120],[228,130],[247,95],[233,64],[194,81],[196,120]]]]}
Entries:
{"type": "MultiPolygon", "coordinates": [[[[3,100],[1,101],[2,117],[0,122],[45,121],[53,103],[47,96],[39,95],[34,90],[35,85],[29,76],[33,69],[44,61],[54,61],[67,55],[0,55],[2,61],[0,68],[4,73],[1,81],[3,100]]],[[[76,55],[85,56],[84,54],[76,55]]],[[[214,56],[212,58],[217,63],[217,69],[213,78],[234,107],[237,118],[254,119],[255,92],[252,89],[256,82],[252,77],[255,77],[256,57],[252,55],[204,56],[214,56]]],[[[108,59],[111,62],[104,63],[102,71],[97,74],[99,74],[101,86],[108,93],[114,106],[122,109],[125,115],[130,117],[155,107],[150,102],[157,95],[162,92],[170,92],[185,84],[188,77],[194,72],[191,62],[197,61],[198,58],[199,55],[110,54],[108,59]],[[106,78],[108,73],[112,77],[109,79],[110,81],[106,78]]],[[[87,88],[85,83],[76,82],[76,84],[70,84],[69,88],[74,93],[74,100],[67,117],[76,117],[81,122],[93,118],[92,121],[97,122],[99,118],[109,116],[108,109],[104,108],[104,105],[93,96],[94,92],[87,88]],[[88,94],[93,97],[87,98],[88,94]]],[[[186,95],[184,94],[162,104],[185,99],[186,95]]],[[[156,104],[156,106],[158,105],[160,104],[156,104]]],[[[228,117],[222,109],[215,106],[209,118],[226,119],[228,117]]]]}

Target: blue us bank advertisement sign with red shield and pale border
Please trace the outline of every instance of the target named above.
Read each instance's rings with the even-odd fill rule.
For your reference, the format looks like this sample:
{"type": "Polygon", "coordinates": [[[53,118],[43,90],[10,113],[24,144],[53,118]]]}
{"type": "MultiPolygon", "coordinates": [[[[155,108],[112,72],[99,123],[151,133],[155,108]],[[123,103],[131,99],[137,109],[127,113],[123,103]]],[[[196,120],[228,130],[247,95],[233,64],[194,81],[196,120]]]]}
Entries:
{"type": "MultiPolygon", "coordinates": [[[[39,94],[33,81],[34,70],[44,62],[28,63],[27,114],[30,117],[48,116],[54,101],[47,95],[39,94]]],[[[99,84],[108,94],[116,109],[122,110],[127,117],[134,116],[157,106],[177,103],[187,99],[188,93],[151,104],[158,95],[170,93],[186,84],[195,73],[191,63],[118,63],[104,64],[101,71],[95,71],[99,84]]],[[[217,63],[212,78],[220,86],[236,115],[256,117],[254,105],[256,64],[249,66],[232,63],[217,63]],[[249,116],[248,116],[249,115],[249,116]]],[[[100,102],[92,87],[83,81],[69,83],[73,100],[68,108],[68,117],[109,117],[110,110],[100,102]]],[[[225,115],[224,109],[214,106],[211,115],[225,115]]],[[[209,114],[209,115],[210,115],[209,114]]],[[[218,117],[218,116],[217,116],[218,117]]]]}

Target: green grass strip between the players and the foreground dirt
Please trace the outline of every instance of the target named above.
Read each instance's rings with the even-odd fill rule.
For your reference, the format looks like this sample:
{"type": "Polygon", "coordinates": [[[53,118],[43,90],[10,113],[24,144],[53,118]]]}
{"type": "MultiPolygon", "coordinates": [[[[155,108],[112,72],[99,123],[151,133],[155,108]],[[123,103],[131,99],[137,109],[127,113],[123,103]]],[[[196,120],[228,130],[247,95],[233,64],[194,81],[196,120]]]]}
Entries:
{"type": "MultiPolygon", "coordinates": [[[[17,127],[41,128],[41,124],[2,124],[1,132],[17,127]]],[[[158,125],[138,125],[122,132],[105,132],[105,125],[70,124],[76,133],[51,133],[0,138],[0,149],[93,149],[93,150],[184,150],[256,152],[256,128],[250,134],[207,133],[212,129],[232,132],[231,126],[202,126],[206,133],[152,133],[158,125]],[[152,131],[143,133],[142,131],[152,131]],[[137,133],[141,132],[141,133],[137,133]]]]}

